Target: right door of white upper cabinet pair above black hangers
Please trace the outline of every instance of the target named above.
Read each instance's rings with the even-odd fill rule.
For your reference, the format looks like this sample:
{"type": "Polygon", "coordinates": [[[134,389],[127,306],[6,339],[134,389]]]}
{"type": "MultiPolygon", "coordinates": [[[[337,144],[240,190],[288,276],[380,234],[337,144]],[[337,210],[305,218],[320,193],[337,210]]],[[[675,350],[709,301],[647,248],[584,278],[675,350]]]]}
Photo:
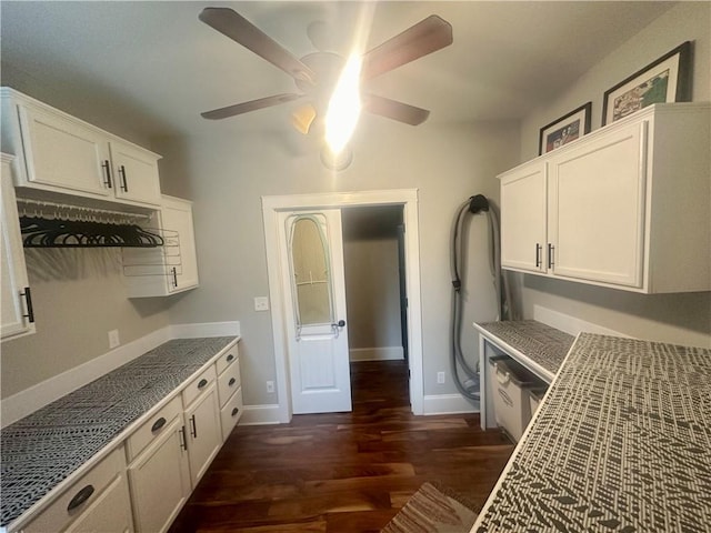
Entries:
{"type": "Polygon", "coordinates": [[[111,140],[110,147],[117,198],[160,205],[157,157],[118,140],[111,140]]]}

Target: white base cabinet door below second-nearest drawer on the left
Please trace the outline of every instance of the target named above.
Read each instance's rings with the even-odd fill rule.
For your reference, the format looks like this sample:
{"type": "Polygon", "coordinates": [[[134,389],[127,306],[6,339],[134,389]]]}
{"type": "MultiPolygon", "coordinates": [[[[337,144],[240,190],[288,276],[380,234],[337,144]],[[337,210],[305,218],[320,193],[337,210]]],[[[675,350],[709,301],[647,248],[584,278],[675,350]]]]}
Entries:
{"type": "Polygon", "coordinates": [[[180,416],[129,466],[138,532],[167,531],[190,496],[190,472],[180,416]]]}

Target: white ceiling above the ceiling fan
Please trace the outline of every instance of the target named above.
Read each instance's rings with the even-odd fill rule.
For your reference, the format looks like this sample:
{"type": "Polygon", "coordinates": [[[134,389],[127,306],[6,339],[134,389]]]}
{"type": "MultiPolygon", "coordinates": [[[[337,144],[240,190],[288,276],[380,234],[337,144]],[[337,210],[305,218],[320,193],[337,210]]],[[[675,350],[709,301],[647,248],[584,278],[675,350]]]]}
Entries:
{"type": "Polygon", "coordinates": [[[358,31],[367,32],[370,49],[439,14],[452,24],[454,43],[371,80],[368,89],[430,109],[431,121],[469,121],[524,117],[673,2],[2,0],[2,84],[19,76],[96,100],[134,118],[148,135],[288,127],[298,103],[219,124],[200,118],[296,91],[284,72],[200,22],[208,6],[234,9],[298,57],[314,51],[306,30],[317,20],[327,22],[343,53],[358,31]],[[372,18],[359,24],[364,8],[372,18]]]}

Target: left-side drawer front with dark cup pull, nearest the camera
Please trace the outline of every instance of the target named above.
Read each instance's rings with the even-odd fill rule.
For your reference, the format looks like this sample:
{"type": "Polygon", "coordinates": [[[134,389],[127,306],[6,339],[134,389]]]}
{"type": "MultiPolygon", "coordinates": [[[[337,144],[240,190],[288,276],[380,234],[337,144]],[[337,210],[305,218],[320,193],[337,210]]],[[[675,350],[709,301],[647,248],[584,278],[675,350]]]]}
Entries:
{"type": "Polygon", "coordinates": [[[119,446],[67,489],[21,531],[24,533],[64,531],[72,521],[99,500],[104,489],[117,476],[123,476],[124,470],[123,446],[119,446]]]}

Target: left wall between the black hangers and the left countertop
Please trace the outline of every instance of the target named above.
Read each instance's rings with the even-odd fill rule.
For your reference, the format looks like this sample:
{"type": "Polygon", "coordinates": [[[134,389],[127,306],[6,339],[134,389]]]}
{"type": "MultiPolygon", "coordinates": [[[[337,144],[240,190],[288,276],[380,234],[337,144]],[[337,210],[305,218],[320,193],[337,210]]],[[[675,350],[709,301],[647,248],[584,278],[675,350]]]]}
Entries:
{"type": "Polygon", "coordinates": [[[168,325],[166,299],[126,298],[117,249],[26,252],[37,333],[2,342],[2,398],[168,325]]]}

